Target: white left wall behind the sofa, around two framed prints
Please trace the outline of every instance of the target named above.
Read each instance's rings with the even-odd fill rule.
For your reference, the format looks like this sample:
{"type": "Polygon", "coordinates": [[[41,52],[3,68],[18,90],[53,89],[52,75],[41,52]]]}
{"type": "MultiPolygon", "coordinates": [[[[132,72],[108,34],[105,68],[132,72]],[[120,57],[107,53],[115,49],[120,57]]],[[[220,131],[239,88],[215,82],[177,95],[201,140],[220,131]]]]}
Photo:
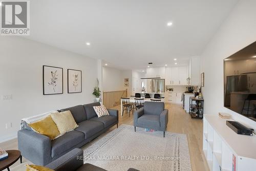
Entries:
{"type": "Polygon", "coordinates": [[[77,104],[93,102],[97,60],[56,49],[36,41],[14,37],[0,38],[0,142],[14,138],[24,117],[77,104]],[[42,95],[42,66],[63,68],[63,94],[42,95]],[[67,93],[67,69],[82,71],[82,93],[67,93]],[[6,130],[6,123],[12,127],[6,130]]]}

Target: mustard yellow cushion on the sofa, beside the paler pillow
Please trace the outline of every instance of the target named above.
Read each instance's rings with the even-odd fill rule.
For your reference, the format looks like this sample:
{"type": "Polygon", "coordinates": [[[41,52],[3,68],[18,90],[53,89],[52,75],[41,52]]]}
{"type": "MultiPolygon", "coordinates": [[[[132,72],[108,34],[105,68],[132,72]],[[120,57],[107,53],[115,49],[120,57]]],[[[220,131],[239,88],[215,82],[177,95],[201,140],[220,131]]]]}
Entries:
{"type": "Polygon", "coordinates": [[[47,116],[45,119],[41,119],[37,122],[29,124],[37,133],[45,135],[53,140],[60,133],[58,127],[52,120],[51,115],[47,116]]]}

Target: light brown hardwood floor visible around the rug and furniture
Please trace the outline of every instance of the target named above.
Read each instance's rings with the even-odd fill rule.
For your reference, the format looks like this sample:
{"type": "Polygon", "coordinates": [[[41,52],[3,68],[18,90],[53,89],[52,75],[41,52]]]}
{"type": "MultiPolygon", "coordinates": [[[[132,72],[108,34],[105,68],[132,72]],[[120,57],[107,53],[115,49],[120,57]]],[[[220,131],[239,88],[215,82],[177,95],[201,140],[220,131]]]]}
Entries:
{"type": "MultiPolygon", "coordinates": [[[[113,109],[119,111],[119,125],[133,125],[133,116],[125,114],[121,116],[121,108],[117,106],[113,109]]],[[[208,171],[208,165],[202,151],[203,137],[203,120],[191,119],[189,114],[186,114],[181,105],[165,104],[165,109],[169,110],[167,131],[179,134],[186,134],[189,146],[191,165],[193,171],[208,171]]],[[[116,127],[113,126],[112,129],[116,127]]],[[[17,149],[17,139],[0,144],[4,149],[17,149]]],[[[15,165],[18,165],[16,162],[15,165]]],[[[14,166],[15,166],[14,165],[14,166]]]]}

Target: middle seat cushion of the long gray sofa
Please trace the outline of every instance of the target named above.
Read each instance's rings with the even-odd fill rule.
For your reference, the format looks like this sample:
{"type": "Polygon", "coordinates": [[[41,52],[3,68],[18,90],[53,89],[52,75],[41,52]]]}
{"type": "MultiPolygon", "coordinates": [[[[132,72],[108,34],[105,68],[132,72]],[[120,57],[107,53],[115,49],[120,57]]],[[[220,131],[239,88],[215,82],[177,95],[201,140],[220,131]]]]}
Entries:
{"type": "Polygon", "coordinates": [[[86,120],[78,123],[76,131],[82,132],[84,134],[84,139],[88,139],[103,129],[104,124],[102,122],[86,120]]]}

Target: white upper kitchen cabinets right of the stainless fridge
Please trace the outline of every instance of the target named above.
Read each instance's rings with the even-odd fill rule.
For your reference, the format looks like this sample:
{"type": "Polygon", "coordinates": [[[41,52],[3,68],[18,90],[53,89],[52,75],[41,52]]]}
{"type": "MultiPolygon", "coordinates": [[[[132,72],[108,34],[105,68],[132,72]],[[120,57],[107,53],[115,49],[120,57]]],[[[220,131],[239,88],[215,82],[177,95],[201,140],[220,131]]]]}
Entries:
{"type": "Polygon", "coordinates": [[[168,67],[165,69],[166,85],[187,85],[188,67],[168,67]]]}

